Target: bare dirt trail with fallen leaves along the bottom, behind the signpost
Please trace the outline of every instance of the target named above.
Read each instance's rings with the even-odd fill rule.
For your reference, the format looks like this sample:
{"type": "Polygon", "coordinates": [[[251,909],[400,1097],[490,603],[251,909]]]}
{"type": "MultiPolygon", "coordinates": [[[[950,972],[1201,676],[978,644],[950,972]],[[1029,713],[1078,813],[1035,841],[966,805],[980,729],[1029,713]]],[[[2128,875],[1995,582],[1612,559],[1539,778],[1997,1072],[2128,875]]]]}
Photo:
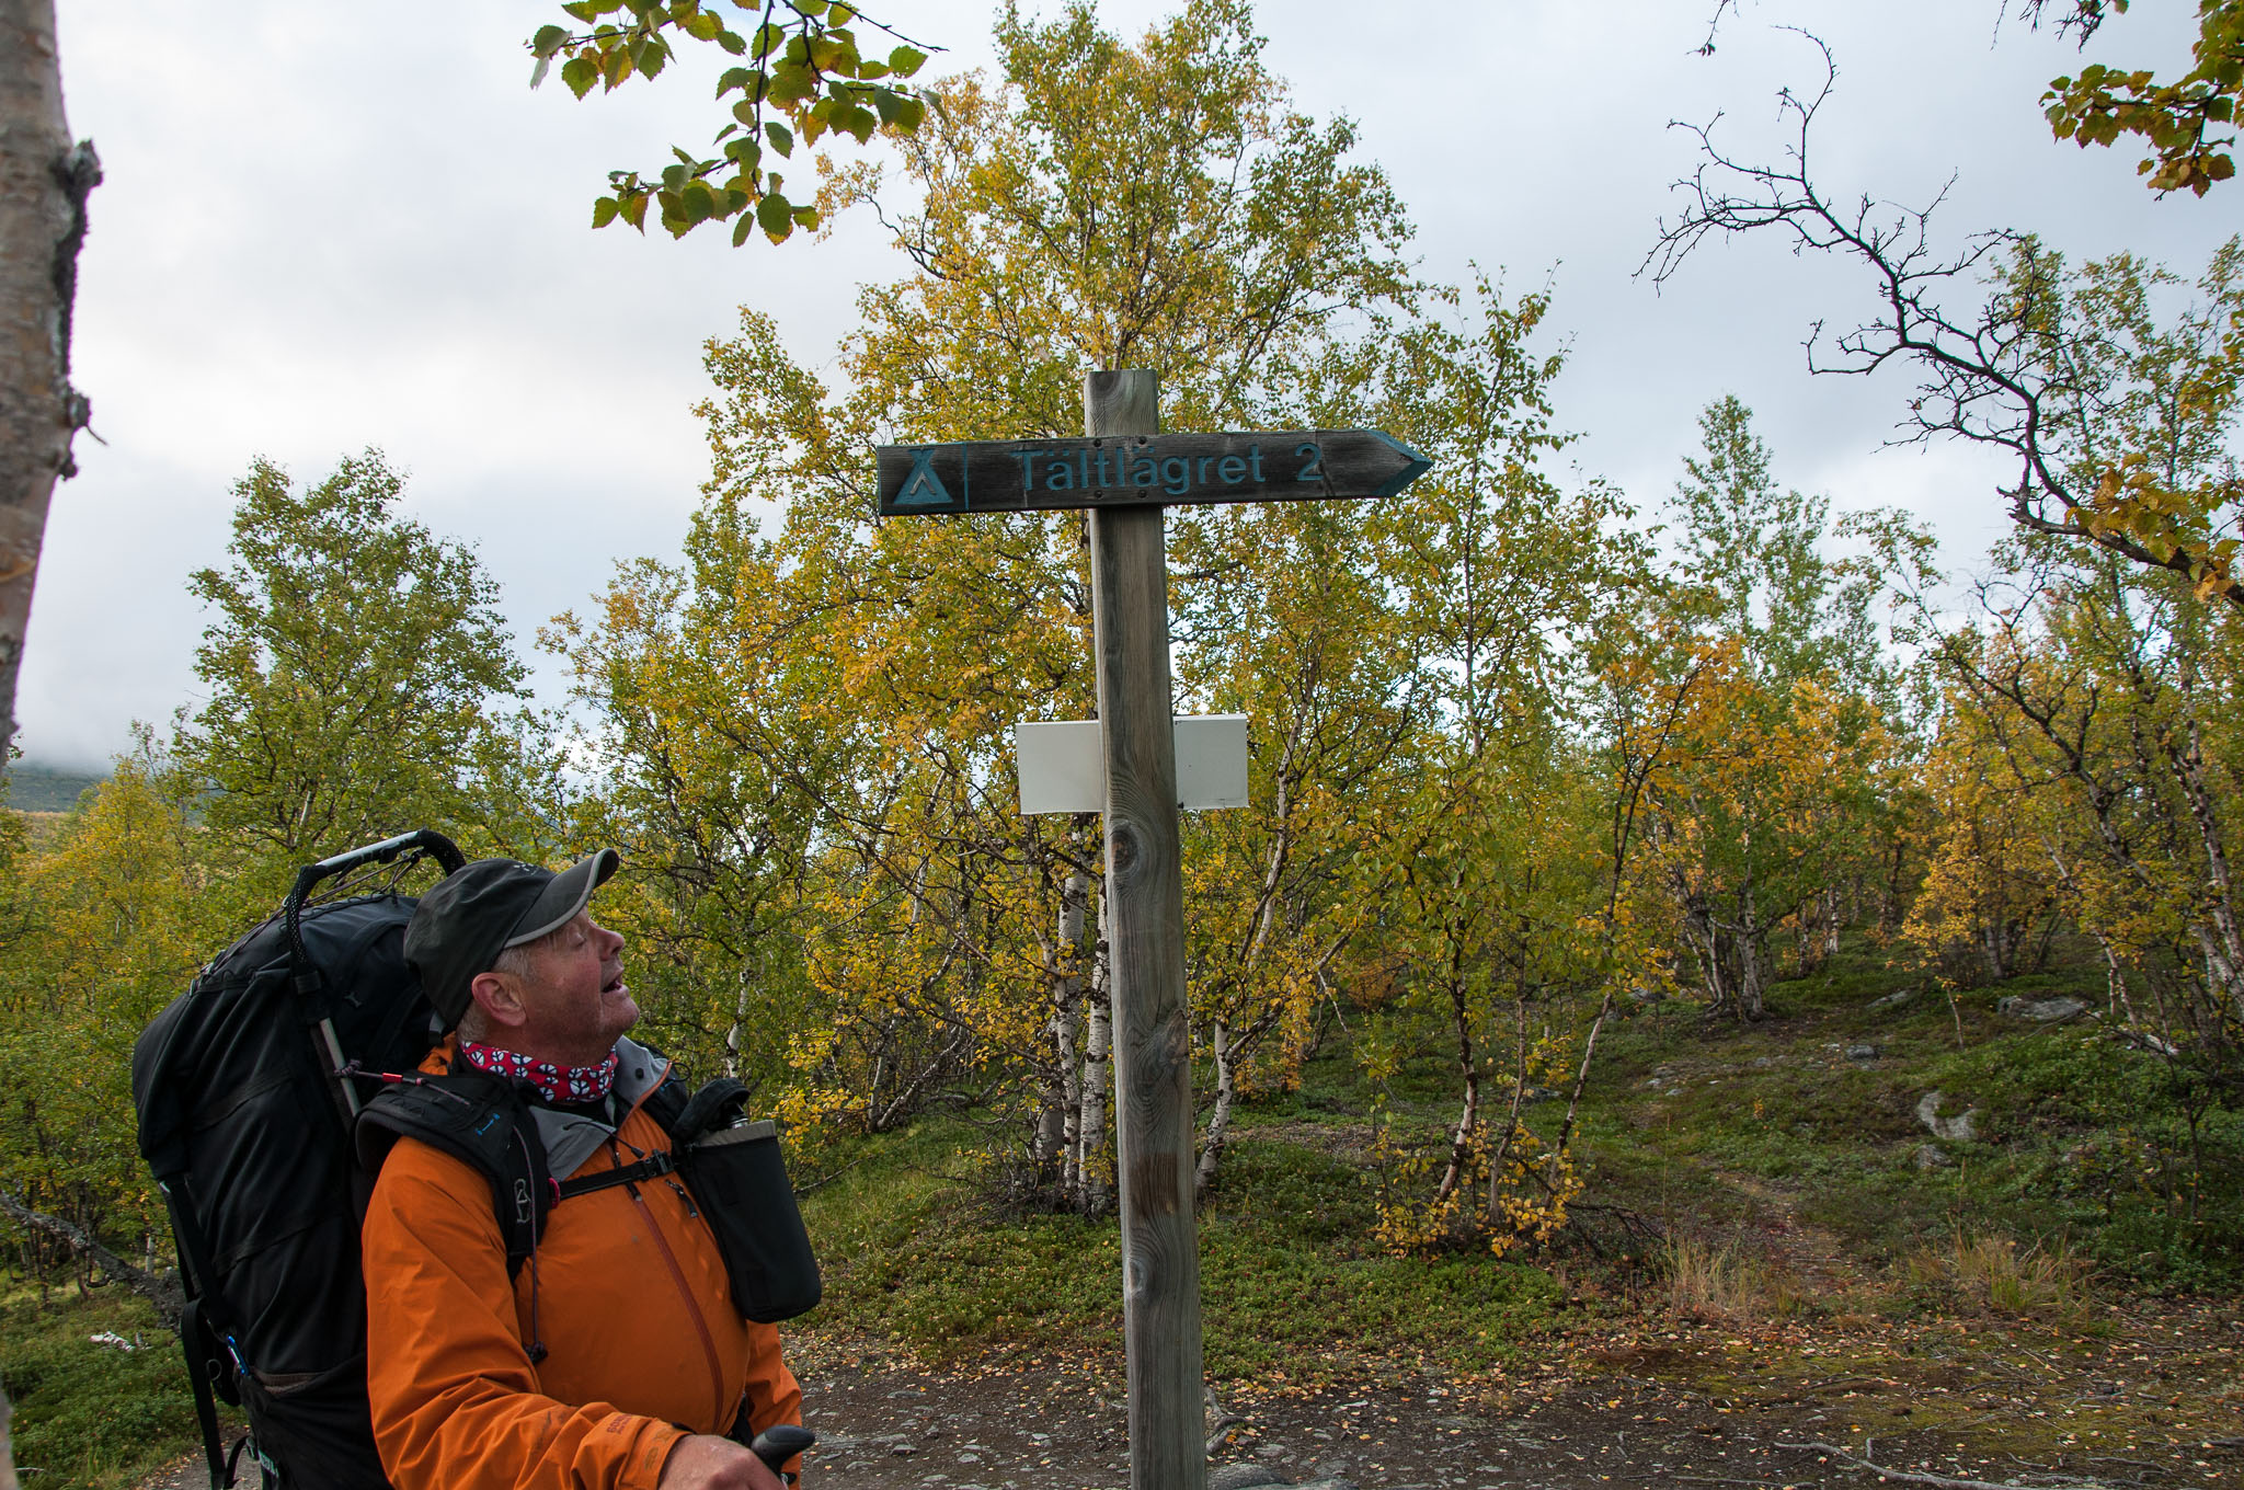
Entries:
{"type": "MultiPolygon", "coordinates": [[[[1842,1445],[1910,1474],[2017,1486],[2244,1483],[2244,1331],[2197,1319],[2159,1364],[2143,1342],[2071,1358],[1986,1335],[1865,1358],[1784,1342],[1739,1355],[1737,1335],[1672,1331],[1569,1349],[1515,1378],[1409,1376],[1376,1387],[1223,1400],[1218,1483],[1342,1479],[1362,1490],[1611,1490],[1625,1483],[1856,1486],[1878,1479],[1797,1443],[1842,1445]],[[1674,1335],[1674,1337],[1670,1337],[1674,1335]],[[2022,1353],[2024,1351],[2024,1353],[2022,1353]],[[2042,1360],[2022,1380],[2015,1360],[2042,1360]],[[1771,1360],[1771,1367],[1777,1362],[1771,1360]],[[1782,1380],[1779,1380],[1782,1378],[1782,1380]],[[2199,1380],[2204,1387],[2199,1387],[2199,1380]],[[2174,1391],[2172,1387],[2181,1387],[2174,1391]],[[1232,1465],[1225,1470],[1225,1465],[1232,1465]]],[[[1129,1483],[1126,1420],[1111,1376],[1037,1362],[925,1371],[862,1344],[799,1349],[808,1463],[833,1490],[1106,1490],[1129,1483]]],[[[1221,1423],[1221,1418],[1218,1418],[1221,1423]]],[[[197,1490],[200,1461],[141,1490],[197,1490]]]]}

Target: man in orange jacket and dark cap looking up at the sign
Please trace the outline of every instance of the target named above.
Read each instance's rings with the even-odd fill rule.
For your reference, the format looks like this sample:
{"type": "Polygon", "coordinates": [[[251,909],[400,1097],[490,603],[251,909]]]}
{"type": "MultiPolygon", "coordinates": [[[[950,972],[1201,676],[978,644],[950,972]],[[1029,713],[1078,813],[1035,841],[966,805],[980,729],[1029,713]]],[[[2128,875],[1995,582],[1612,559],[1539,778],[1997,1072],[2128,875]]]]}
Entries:
{"type": "MultiPolygon", "coordinates": [[[[478,859],[406,927],[406,963],[456,1025],[422,1070],[536,1086],[554,1180],[671,1142],[642,1111],[666,1064],[624,1039],[624,938],[586,913],[615,866],[613,848],[559,875],[478,859]]],[[[801,1389],[779,1333],[732,1308],[675,1176],[557,1203],[509,1281],[491,1183],[402,1138],[361,1241],[368,1400],[397,1490],[781,1490],[743,1443],[801,1423],[801,1389]]]]}

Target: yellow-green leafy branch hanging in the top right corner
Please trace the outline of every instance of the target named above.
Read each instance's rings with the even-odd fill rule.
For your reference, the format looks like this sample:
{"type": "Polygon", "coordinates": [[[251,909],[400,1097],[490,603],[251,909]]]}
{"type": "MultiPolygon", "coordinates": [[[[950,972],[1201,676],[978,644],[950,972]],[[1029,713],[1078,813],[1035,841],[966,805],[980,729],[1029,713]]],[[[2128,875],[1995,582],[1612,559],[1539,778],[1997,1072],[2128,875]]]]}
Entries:
{"type": "MultiPolygon", "coordinates": [[[[2049,0],[2031,0],[2035,22],[2049,0]]],[[[2127,0],[2064,0],[2060,31],[2071,31],[2087,47],[2109,13],[2125,11],[2127,0]]],[[[2217,132],[2235,123],[2237,88],[2244,85],[2244,0],[2197,0],[2197,43],[2190,72],[2161,83],[2148,67],[2089,65],[2080,76],[2056,79],[2042,94],[2049,128],[2058,139],[2087,146],[2109,146],[2121,135],[2143,135],[2150,155],[2136,171],[2150,177],[2152,191],[2188,186],[2206,195],[2213,182],[2235,175],[2226,146],[2235,132],[2217,132]]]]}

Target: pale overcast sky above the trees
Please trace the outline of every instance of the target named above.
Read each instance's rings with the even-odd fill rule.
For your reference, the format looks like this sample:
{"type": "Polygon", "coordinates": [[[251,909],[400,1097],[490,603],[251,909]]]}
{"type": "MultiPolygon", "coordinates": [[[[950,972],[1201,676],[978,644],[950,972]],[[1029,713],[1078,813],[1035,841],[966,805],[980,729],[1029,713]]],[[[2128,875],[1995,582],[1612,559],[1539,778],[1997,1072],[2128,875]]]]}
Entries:
{"type": "MultiPolygon", "coordinates": [[[[1775,90],[1820,74],[1779,29],[1802,25],[1840,63],[1827,186],[1923,202],[1952,175],[1937,222],[1957,238],[2017,227],[2195,274],[2244,220],[2244,186],[2156,202],[2125,148],[2053,144],[2035,99],[2080,58],[2015,18],[1997,34],[1999,0],[1744,0],[1699,56],[1712,7],[1263,0],[1259,25],[1299,108],[1360,121],[1427,276],[1479,263],[1555,289],[1548,325],[1571,346],[1557,415],[1584,435],[1582,476],[1654,507],[1699,411],[1737,393],[1777,480],[1838,507],[1910,507],[1968,568],[2002,527],[2004,469],[1880,449],[1898,375],[1804,370],[1809,323],[1860,307],[1856,274],[1771,238],[1701,254],[1665,292],[1634,278],[1694,162],[1670,119],[1726,112],[1739,153],[1773,150],[1775,90]]],[[[1131,36],[1171,9],[1100,7],[1131,36]]],[[[2139,7],[2091,58],[2186,65],[2190,9],[2139,7]]],[[[987,63],[990,13],[898,0],[889,18],[947,47],[936,74],[987,63]]],[[[530,92],[523,38],[550,18],[557,4],[527,0],[61,0],[70,123],[108,173],[74,357],[108,444],[81,438],[83,473],[56,491],[18,700],[29,761],[99,767],[130,720],[197,702],[204,617],[184,581],[222,559],[251,456],[316,480],[384,449],[411,473],[406,509],[482,554],[527,651],[617,561],[678,552],[705,476],[702,341],[749,305],[830,366],[855,287],[898,274],[868,218],[779,249],[588,231],[610,166],[707,141],[709,85],[530,92]]],[[[552,660],[536,666],[554,698],[552,660]]]]}

